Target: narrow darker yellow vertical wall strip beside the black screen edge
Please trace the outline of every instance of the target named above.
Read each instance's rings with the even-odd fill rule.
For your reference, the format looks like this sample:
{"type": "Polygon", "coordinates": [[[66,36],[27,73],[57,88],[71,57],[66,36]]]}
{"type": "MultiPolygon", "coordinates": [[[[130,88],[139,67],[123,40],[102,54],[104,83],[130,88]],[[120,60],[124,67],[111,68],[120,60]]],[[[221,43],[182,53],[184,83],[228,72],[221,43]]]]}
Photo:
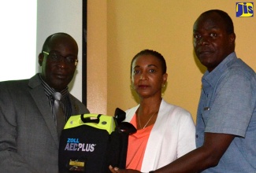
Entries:
{"type": "Polygon", "coordinates": [[[107,3],[87,0],[87,108],[106,114],[107,109],[107,3]]]}

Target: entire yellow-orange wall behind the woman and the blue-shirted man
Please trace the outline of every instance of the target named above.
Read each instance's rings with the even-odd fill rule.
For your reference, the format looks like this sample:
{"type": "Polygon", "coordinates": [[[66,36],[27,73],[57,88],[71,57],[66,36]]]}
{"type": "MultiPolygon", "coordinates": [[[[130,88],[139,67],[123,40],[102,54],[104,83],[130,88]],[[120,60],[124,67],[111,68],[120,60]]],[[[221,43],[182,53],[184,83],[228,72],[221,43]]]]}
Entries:
{"type": "Polygon", "coordinates": [[[256,20],[236,17],[236,2],[88,0],[88,35],[93,36],[87,39],[87,58],[96,61],[88,63],[88,108],[113,115],[117,107],[136,105],[130,87],[130,61],[140,50],[152,49],[162,53],[168,64],[163,98],[190,111],[195,120],[201,77],[206,70],[192,46],[192,26],[200,13],[222,9],[232,17],[236,53],[256,70],[256,20]]]}

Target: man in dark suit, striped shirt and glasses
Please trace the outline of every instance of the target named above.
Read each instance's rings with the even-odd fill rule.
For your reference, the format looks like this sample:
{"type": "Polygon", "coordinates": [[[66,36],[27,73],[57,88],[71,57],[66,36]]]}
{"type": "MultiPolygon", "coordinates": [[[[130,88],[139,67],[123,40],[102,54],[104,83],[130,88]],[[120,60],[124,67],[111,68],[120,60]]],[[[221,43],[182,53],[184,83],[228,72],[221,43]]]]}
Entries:
{"type": "Polygon", "coordinates": [[[69,93],[78,46],[68,34],[50,35],[39,53],[42,72],[31,79],[0,83],[0,172],[58,172],[58,117],[53,94],[61,94],[61,112],[88,113],[69,93]]]}

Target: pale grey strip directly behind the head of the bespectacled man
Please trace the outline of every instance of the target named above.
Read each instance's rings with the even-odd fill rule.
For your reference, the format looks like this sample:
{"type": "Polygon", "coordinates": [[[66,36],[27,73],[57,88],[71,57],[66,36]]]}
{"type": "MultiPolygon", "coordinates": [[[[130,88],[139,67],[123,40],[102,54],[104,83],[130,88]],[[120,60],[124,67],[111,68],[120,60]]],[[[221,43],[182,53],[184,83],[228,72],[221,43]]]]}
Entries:
{"type": "MultiPolygon", "coordinates": [[[[41,52],[45,39],[56,32],[71,35],[79,46],[76,73],[69,84],[70,92],[82,101],[82,1],[79,0],[37,0],[36,56],[41,52]]],[[[40,71],[38,60],[37,71],[40,71]]]]}

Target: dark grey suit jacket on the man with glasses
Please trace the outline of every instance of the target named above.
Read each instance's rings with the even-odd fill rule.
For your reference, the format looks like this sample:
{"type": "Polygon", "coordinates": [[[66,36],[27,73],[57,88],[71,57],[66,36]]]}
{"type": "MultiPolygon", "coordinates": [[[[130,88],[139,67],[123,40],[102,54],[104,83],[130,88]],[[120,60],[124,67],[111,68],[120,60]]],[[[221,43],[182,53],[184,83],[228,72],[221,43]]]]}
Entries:
{"type": "MultiPolygon", "coordinates": [[[[72,115],[89,112],[69,97],[72,115]]],[[[39,75],[0,83],[0,172],[58,172],[58,145],[39,75]]]]}

